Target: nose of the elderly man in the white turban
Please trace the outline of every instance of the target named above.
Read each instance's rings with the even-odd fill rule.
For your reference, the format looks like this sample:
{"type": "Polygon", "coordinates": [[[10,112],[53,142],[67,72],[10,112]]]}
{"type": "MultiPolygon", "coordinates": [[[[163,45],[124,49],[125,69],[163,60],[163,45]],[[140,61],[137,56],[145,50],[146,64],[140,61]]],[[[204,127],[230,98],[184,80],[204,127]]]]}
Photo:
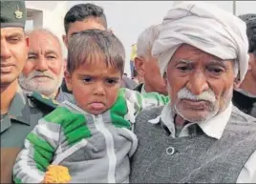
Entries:
{"type": "Polygon", "coordinates": [[[194,72],[193,75],[190,76],[186,87],[195,95],[199,95],[209,88],[206,76],[203,74],[203,72],[199,71],[194,72]]]}

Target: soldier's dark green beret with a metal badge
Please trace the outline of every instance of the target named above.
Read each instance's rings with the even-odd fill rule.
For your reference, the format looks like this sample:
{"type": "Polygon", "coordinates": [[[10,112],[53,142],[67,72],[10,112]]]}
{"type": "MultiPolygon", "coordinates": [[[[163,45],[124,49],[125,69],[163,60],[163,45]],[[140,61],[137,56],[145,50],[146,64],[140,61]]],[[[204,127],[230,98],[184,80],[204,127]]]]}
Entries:
{"type": "Polygon", "coordinates": [[[1,1],[1,28],[25,27],[27,10],[25,1],[1,1]]]}

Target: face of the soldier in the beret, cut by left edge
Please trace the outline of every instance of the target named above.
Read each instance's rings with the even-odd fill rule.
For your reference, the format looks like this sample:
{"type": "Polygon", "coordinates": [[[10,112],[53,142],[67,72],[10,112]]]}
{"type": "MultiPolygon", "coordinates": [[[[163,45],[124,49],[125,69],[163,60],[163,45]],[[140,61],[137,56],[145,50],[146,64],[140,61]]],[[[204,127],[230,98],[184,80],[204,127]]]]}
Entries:
{"type": "Polygon", "coordinates": [[[1,86],[18,78],[27,59],[28,45],[22,28],[1,28],[1,86]]]}

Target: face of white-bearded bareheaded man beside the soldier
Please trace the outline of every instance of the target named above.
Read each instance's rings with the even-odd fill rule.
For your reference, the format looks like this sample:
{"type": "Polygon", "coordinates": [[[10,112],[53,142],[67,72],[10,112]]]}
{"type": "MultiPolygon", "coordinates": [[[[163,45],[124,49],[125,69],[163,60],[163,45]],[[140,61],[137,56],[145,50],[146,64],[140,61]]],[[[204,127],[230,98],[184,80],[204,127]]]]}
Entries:
{"type": "Polygon", "coordinates": [[[32,32],[28,59],[19,77],[20,85],[27,91],[45,95],[57,92],[64,75],[61,54],[61,46],[53,35],[32,32]]]}

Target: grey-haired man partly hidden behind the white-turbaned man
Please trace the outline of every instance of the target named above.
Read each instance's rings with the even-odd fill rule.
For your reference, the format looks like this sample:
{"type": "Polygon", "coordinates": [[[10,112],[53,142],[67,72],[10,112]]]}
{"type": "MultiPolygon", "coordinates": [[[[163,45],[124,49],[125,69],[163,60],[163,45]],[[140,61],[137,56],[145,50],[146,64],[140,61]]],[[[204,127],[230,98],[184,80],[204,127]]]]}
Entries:
{"type": "Polygon", "coordinates": [[[154,25],[139,34],[135,66],[144,83],[140,83],[135,89],[138,92],[159,92],[167,95],[166,82],[160,75],[158,60],[151,54],[153,43],[159,37],[160,28],[161,25],[154,25]]]}

